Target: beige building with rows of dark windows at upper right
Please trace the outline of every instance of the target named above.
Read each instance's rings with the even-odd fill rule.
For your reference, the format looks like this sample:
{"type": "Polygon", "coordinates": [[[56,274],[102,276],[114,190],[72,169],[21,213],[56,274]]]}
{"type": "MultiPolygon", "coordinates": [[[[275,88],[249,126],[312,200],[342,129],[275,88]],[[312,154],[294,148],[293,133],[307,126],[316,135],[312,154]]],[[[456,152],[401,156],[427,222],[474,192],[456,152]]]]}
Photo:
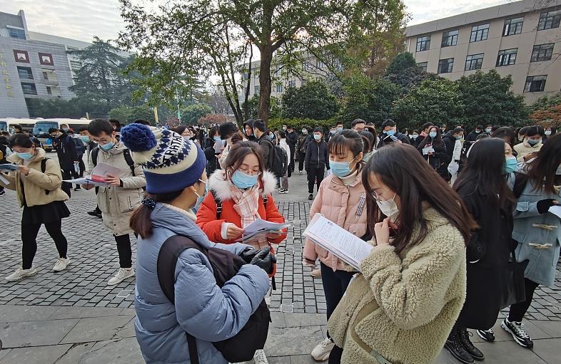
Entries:
{"type": "Polygon", "coordinates": [[[477,70],[512,75],[532,103],[561,90],[561,1],[527,0],[406,28],[418,66],[457,80],[477,70]]]}

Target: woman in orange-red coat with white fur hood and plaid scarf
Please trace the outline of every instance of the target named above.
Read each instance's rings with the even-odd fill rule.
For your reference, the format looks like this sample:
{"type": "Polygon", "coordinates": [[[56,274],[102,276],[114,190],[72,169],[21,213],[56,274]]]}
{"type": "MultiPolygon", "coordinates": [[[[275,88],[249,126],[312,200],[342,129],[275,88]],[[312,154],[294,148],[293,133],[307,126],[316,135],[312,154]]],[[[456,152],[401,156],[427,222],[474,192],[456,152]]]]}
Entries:
{"type": "MultiPolygon", "coordinates": [[[[216,170],[208,179],[212,193],[197,212],[198,226],[211,241],[231,244],[240,241],[243,229],[256,219],[284,222],[271,195],[275,185],[275,176],[263,166],[261,148],[255,142],[238,142],[230,150],[223,170],[216,170]],[[222,207],[220,216],[217,202],[222,207]]],[[[285,238],[285,232],[276,232],[244,242],[261,249],[285,238]]]]}

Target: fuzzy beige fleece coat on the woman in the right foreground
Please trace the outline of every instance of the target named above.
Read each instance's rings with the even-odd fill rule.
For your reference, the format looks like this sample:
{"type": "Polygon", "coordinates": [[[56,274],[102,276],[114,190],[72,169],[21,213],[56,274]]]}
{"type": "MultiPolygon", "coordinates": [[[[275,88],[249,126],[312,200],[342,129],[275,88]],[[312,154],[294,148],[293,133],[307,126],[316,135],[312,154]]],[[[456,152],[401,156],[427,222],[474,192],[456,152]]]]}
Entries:
{"type": "Polygon", "coordinates": [[[426,238],[399,255],[375,248],[335,308],[328,329],[341,363],[432,363],[442,350],[465,300],[465,244],[435,209],[423,216],[426,238]]]}

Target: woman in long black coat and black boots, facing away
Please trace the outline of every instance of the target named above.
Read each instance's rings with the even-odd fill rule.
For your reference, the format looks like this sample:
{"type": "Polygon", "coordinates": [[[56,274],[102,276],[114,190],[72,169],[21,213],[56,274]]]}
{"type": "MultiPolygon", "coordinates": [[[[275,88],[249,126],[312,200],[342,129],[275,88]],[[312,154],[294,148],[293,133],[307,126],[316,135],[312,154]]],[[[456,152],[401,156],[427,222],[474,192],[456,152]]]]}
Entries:
{"type": "MultiPolygon", "coordinates": [[[[479,228],[467,249],[468,291],[466,300],[445,348],[461,363],[484,360],[471,342],[467,328],[488,341],[495,340],[491,328],[497,321],[502,287],[512,239],[515,197],[506,176],[517,167],[516,157],[505,140],[489,137],[475,143],[465,169],[454,184],[479,228]]],[[[510,284],[510,283],[509,283],[510,284]]]]}

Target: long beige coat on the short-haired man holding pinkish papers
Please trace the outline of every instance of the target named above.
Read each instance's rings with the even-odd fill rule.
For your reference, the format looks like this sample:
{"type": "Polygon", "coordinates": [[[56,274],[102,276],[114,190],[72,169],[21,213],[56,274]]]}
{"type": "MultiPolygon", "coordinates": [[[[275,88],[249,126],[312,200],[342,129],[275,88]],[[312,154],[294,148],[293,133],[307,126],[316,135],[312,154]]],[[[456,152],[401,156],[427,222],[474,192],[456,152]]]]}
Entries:
{"type": "MultiPolygon", "coordinates": [[[[146,186],[146,178],[140,165],[134,165],[134,174],[131,167],[126,164],[123,150],[126,147],[121,142],[107,152],[99,149],[97,155],[97,163],[106,163],[117,167],[121,170],[121,178],[123,187],[99,187],[97,194],[97,204],[101,209],[101,216],[103,217],[103,224],[114,235],[124,235],[133,232],[129,225],[129,219],[133,209],[140,204],[143,198],[142,187],[146,186]]],[[[91,175],[93,170],[93,161],[89,160],[87,174],[91,175]]]]}

